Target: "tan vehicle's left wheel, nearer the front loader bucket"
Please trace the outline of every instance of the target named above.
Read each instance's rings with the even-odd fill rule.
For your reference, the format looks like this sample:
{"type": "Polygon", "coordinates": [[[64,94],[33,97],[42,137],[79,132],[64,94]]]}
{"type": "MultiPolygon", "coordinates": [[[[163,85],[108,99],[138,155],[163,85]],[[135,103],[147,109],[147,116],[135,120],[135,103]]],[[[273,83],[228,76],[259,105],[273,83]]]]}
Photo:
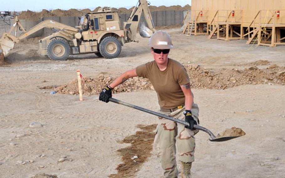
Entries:
{"type": "Polygon", "coordinates": [[[52,40],[47,47],[47,55],[51,60],[66,60],[70,54],[70,46],[63,39],[52,40]]]}

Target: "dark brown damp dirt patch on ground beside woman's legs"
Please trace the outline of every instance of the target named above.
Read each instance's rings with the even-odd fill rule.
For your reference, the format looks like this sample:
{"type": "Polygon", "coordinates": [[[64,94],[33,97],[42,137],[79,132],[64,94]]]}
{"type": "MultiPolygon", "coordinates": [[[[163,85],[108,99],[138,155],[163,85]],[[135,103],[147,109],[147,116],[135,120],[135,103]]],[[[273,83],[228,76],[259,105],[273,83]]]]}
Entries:
{"type": "Polygon", "coordinates": [[[117,166],[118,173],[111,174],[109,177],[132,177],[140,170],[143,163],[151,156],[155,136],[153,130],[156,126],[157,124],[138,125],[137,127],[142,131],[137,131],[135,135],[130,135],[122,141],[122,143],[131,144],[131,146],[117,150],[122,155],[123,163],[117,166]]]}

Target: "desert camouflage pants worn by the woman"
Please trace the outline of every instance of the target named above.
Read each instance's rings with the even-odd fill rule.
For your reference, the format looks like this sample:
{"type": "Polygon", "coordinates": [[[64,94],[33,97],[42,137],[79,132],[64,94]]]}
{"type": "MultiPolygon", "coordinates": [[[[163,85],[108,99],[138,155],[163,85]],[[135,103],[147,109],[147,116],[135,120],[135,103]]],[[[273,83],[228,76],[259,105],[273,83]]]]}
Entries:
{"type": "MultiPolygon", "coordinates": [[[[184,107],[172,113],[162,112],[162,114],[185,120],[184,107]]],[[[192,116],[198,123],[199,108],[196,104],[192,106],[192,116]]],[[[175,178],[178,176],[176,164],[176,148],[178,160],[189,163],[194,161],[195,138],[198,130],[185,128],[183,124],[173,122],[159,117],[157,133],[154,138],[154,148],[158,151],[165,178],[175,178]],[[176,147],[175,147],[176,143],[176,147]]]]}

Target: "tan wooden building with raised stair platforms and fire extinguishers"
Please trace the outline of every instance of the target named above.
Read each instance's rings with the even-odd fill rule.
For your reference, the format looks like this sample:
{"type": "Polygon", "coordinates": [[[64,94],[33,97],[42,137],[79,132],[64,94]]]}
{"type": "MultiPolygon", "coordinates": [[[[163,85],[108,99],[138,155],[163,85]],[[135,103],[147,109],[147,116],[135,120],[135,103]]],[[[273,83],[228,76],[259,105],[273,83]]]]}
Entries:
{"type": "Polygon", "coordinates": [[[285,1],[192,0],[191,8],[187,16],[192,20],[184,26],[183,34],[225,41],[247,39],[247,44],[272,47],[285,44],[285,1]]]}

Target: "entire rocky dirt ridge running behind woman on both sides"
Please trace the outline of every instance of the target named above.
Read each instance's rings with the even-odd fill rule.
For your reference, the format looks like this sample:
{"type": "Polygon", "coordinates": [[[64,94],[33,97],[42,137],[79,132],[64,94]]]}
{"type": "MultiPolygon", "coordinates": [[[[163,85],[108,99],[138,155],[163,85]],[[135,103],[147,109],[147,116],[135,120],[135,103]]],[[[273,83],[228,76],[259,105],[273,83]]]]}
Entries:
{"type": "MultiPolygon", "coordinates": [[[[238,69],[220,69],[210,71],[203,69],[199,65],[185,66],[191,81],[191,87],[197,89],[226,89],[240,85],[256,85],[256,84],[279,84],[285,85],[285,73],[276,75],[277,72],[284,71],[285,67],[272,65],[267,69],[258,69],[255,67],[238,69]]],[[[102,88],[109,85],[115,78],[100,75],[96,78],[85,78],[82,85],[84,95],[98,95],[102,88]]],[[[114,88],[114,93],[133,92],[138,90],[153,89],[150,81],[142,77],[130,78],[121,85],[114,88]]],[[[56,92],[62,94],[77,95],[77,80],[71,81],[69,84],[59,86],[56,92]]]]}

